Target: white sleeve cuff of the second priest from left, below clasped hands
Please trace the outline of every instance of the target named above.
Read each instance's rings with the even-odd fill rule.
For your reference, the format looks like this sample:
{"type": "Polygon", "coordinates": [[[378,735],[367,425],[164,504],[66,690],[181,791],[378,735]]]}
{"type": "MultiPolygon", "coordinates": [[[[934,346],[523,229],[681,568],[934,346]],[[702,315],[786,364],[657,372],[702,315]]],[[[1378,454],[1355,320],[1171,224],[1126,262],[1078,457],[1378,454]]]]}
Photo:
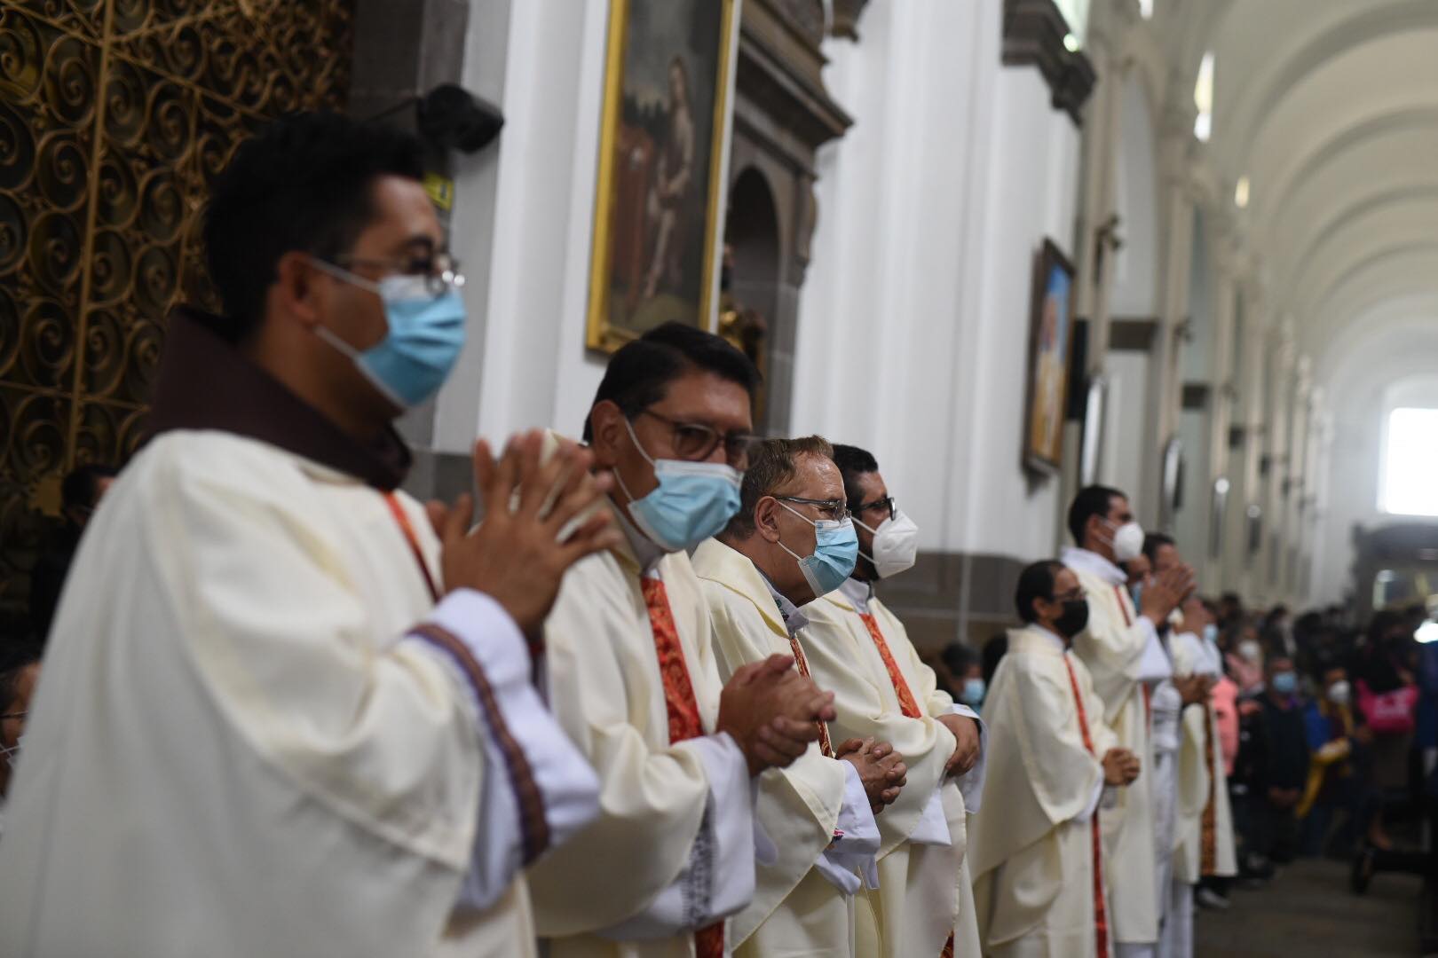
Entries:
{"type": "Polygon", "coordinates": [[[712,925],[754,898],[755,832],[749,763],[728,734],[689,738],[705,767],[709,796],[683,870],[649,908],[598,932],[611,941],[672,938],[712,925]]]}

